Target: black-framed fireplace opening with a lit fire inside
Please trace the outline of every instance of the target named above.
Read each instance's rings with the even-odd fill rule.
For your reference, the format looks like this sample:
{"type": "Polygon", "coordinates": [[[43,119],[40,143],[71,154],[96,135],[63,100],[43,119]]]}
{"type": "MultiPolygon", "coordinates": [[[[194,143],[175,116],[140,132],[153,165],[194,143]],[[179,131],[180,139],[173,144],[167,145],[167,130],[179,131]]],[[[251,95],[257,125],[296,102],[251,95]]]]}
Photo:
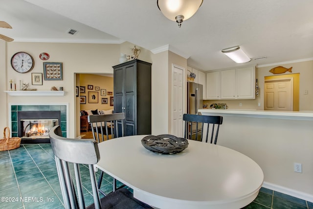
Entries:
{"type": "Polygon", "coordinates": [[[18,136],[21,143],[50,143],[49,131],[61,124],[61,111],[21,111],[18,136]]]}

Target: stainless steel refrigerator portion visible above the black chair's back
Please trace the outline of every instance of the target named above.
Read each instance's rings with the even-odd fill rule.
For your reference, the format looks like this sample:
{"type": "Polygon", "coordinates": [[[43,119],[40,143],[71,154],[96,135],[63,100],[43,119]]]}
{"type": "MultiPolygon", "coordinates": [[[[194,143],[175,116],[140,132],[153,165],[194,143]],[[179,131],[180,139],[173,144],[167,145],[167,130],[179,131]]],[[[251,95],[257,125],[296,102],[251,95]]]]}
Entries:
{"type": "Polygon", "coordinates": [[[198,110],[203,108],[203,86],[194,82],[187,84],[187,113],[198,115],[198,110]]]}

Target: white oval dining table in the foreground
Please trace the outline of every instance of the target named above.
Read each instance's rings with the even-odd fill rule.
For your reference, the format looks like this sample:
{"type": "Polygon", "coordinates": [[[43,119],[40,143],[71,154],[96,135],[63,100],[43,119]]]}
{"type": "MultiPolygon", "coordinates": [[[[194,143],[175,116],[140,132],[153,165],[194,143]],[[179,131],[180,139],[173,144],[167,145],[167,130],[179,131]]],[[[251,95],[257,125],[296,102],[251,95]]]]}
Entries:
{"type": "Polygon", "coordinates": [[[145,136],[98,144],[96,167],[133,188],[138,200],[159,209],[240,209],[257,197],[263,171],[246,155],[194,140],[180,153],[158,154],[143,147],[145,136]]]}

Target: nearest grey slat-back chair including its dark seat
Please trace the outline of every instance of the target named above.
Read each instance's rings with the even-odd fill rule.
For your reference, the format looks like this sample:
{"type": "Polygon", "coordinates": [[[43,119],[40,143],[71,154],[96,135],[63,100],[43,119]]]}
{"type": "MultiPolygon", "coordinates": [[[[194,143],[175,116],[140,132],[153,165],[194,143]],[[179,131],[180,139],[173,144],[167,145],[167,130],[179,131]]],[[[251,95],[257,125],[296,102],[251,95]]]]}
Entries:
{"type": "Polygon", "coordinates": [[[62,196],[66,209],[85,209],[81,166],[89,168],[90,184],[94,203],[87,209],[133,209],[151,208],[134,198],[126,188],[119,189],[100,199],[93,165],[100,160],[98,143],[94,139],[68,139],[62,137],[61,127],[54,126],[50,143],[55,155],[62,196]],[[82,165],[84,164],[84,165],[82,165]],[[73,167],[73,169],[70,169],[73,167]],[[76,184],[74,184],[74,182],[76,184]],[[75,186],[74,186],[75,185],[75,186]]]}

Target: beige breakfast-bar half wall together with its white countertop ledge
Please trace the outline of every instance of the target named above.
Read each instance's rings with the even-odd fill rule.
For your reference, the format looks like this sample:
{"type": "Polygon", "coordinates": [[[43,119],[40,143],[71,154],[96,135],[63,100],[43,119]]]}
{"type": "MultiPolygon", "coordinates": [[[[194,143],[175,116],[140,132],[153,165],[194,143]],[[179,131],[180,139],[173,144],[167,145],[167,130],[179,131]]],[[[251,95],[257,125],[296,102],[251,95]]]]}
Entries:
{"type": "Polygon", "coordinates": [[[201,109],[223,116],[219,145],[239,151],[260,165],[263,187],[313,201],[313,111],[201,109]],[[302,173],[294,171],[302,164],[302,173]]]}

